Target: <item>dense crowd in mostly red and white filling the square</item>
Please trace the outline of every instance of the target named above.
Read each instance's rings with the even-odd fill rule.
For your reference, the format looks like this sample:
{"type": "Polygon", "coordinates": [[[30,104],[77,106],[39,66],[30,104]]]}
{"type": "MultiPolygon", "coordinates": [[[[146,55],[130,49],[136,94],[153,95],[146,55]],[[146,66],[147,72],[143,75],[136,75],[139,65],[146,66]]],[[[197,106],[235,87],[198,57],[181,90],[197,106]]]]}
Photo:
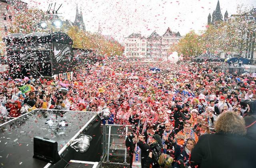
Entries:
{"type": "MultiPolygon", "coordinates": [[[[199,164],[200,168],[211,167],[203,163],[210,160],[214,162],[212,167],[219,167],[218,160],[212,160],[213,156],[202,156],[218,153],[220,148],[225,148],[224,142],[235,141],[234,137],[226,137],[220,142],[225,134],[241,136],[238,143],[246,145],[241,146],[244,150],[248,145],[254,147],[248,148],[250,151],[246,153],[234,147],[235,142],[233,146],[229,144],[228,154],[220,154],[222,160],[232,161],[235,159],[232,154],[236,152],[240,152],[235,155],[239,157],[236,159],[252,158],[255,156],[251,151],[256,146],[256,119],[249,115],[252,107],[241,105],[240,101],[256,100],[256,78],[216,72],[213,65],[107,60],[100,65],[87,65],[90,70],[81,69],[72,80],[12,79],[2,74],[0,115],[18,117],[23,113],[22,106],[27,106],[28,111],[42,108],[85,112],[108,107],[111,115],[102,121],[104,124],[133,125],[133,132],[126,139],[131,167],[172,165],[178,168],[182,167],[179,160],[190,167],[199,164]],[[152,67],[160,71],[150,70],[152,67]],[[26,85],[31,91],[24,94],[19,88],[26,85]],[[247,120],[243,118],[246,115],[247,120]],[[217,133],[220,137],[213,137],[217,133]],[[216,141],[205,135],[211,135],[216,141]],[[150,160],[154,158],[150,144],[156,141],[162,144],[162,152],[166,154],[161,155],[158,162],[150,160]],[[214,146],[214,143],[218,144],[214,146]]],[[[233,167],[244,164],[239,163],[233,167]]],[[[232,167],[230,165],[226,167],[232,167]]]]}

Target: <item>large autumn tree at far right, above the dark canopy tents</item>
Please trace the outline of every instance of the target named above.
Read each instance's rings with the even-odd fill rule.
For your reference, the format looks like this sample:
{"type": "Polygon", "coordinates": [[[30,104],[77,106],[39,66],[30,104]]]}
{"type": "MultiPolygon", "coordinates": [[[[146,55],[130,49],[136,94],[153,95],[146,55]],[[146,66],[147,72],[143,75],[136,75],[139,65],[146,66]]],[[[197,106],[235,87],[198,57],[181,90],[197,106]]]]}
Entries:
{"type": "Polygon", "coordinates": [[[252,43],[250,37],[255,38],[255,20],[250,19],[252,13],[240,5],[237,8],[237,14],[232,15],[227,21],[207,25],[207,29],[201,36],[202,47],[212,53],[218,51],[239,53],[241,57],[249,43],[252,43]],[[250,33],[254,33],[254,36],[250,33]]]}

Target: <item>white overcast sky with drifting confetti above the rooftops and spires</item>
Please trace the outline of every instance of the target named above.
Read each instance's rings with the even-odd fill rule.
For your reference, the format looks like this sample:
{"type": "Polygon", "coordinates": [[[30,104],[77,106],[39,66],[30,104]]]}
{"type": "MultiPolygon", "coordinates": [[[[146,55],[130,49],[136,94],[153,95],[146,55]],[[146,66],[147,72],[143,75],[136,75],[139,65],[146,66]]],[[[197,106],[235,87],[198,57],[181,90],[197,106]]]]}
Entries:
{"type": "MultiPolygon", "coordinates": [[[[98,31],[122,41],[131,33],[148,36],[152,31],[163,35],[168,27],[185,35],[190,30],[205,29],[208,14],[216,8],[218,0],[24,0],[30,7],[44,11],[50,3],[62,4],[59,13],[74,21],[76,4],[82,14],[87,31],[98,31]]],[[[222,16],[236,14],[238,4],[256,7],[256,0],[220,0],[222,16]]],[[[56,8],[57,8],[56,7],[56,8]]],[[[53,7],[52,7],[53,8],[53,7]]]]}

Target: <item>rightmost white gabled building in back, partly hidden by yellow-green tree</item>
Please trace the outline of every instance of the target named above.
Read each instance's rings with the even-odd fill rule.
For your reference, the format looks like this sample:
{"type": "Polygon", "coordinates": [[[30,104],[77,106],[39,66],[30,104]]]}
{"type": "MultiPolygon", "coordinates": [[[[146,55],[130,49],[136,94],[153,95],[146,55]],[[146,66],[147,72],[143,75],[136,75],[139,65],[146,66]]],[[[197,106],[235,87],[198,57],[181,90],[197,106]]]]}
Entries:
{"type": "Polygon", "coordinates": [[[180,32],[172,32],[171,29],[168,27],[164,35],[162,36],[162,57],[168,56],[168,50],[172,45],[178,44],[179,40],[181,39],[180,32]]]}

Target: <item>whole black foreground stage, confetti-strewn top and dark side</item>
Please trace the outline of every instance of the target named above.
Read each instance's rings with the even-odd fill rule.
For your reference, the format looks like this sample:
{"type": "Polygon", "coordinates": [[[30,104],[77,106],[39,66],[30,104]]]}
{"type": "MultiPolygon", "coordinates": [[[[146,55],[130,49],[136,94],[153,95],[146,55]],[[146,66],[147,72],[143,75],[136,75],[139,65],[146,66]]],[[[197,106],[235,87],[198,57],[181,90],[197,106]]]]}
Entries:
{"type": "Polygon", "coordinates": [[[64,168],[70,160],[99,162],[102,154],[100,123],[95,112],[46,109],[36,109],[15,119],[2,119],[0,167],[64,168]],[[80,133],[92,136],[85,153],[76,152],[69,146],[70,140],[76,139],[80,133]],[[33,158],[33,139],[36,136],[58,142],[58,153],[62,159],[50,164],[33,158]]]}

